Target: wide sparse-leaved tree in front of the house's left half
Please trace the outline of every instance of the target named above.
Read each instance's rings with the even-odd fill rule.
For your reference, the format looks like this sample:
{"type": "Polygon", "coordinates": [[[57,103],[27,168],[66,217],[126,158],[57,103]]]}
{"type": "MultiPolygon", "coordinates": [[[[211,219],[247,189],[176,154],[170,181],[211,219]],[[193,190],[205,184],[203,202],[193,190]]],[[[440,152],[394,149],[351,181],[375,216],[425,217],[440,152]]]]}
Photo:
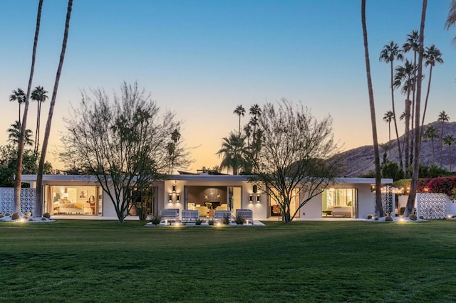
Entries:
{"type": "Polygon", "coordinates": [[[61,159],[96,176],[123,223],[135,201],[132,188],[145,191],[151,182],[165,179],[171,162],[186,161],[180,152],[172,158],[168,154],[168,144],[177,144],[172,134],[180,122],[170,111],[161,114],[136,84],[123,83],[120,95],[112,99],[103,90],[91,95],[83,92],[80,109],[64,120],[68,134],[62,138],[61,159]]]}

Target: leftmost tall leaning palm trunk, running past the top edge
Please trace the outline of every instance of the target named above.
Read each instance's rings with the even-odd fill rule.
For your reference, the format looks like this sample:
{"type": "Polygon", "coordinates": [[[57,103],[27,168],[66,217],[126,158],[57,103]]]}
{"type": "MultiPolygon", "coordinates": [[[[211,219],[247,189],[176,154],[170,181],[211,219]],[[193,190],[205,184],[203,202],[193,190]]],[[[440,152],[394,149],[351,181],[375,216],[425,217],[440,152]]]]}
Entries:
{"type": "MultiPolygon", "coordinates": [[[[26,95],[26,104],[24,106],[24,118],[21,124],[21,135],[19,137],[19,144],[17,149],[17,163],[16,163],[16,180],[14,180],[14,208],[16,212],[21,211],[21,181],[22,181],[22,160],[24,158],[24,143],[26,137],[27,127],[27,115],[28,115],[28,103],[30,101],[31,83],[33,80],[33,73],[35,71],[35,58],[36,58],[36,46],[38,45],[38,34],[40,32],[41,23],[41,8],[43,7],[43,0],[38,2],[38,12],[36,14],[36,27],[35,27],[35,38],[33,39],[33,50],[31,53],[31,68],[30,75],[28,76],[28,86],[26,95]]],[[[19,118],[21,117],[21,104],[19,104],[19,118]]],[[[20,120],[19,120],[20,122],[20,120]]]]}

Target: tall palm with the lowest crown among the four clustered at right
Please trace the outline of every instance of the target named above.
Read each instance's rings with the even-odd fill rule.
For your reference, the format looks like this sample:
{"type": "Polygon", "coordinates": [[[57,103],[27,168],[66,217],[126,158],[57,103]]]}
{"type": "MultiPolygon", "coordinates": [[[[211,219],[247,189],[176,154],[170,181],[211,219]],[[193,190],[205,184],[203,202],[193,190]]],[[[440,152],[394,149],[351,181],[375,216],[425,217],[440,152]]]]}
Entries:
{"type": "Polygon", "coordinates": [[[405,99],[405,136],[404,136],[404,157],[405,157],[405,174],[408,172],[410,164],[410,109],[412,102],[410,101],[410,93],[415,87],[415,65],[409,60],[405,60],[403,66],[395,68],[394,86],[402,87],[400,91],[407,96],[405,99]]]}

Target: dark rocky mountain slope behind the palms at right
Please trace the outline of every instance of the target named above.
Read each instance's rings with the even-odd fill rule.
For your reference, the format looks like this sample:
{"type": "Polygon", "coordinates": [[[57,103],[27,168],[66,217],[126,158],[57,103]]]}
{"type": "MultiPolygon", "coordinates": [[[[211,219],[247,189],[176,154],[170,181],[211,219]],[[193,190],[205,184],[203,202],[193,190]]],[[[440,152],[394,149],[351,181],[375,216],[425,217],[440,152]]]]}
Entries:
{"type": "MultiPolygon", "coordinates": [[[[432,122],[427,124],[423,127],[423,132],[425,132],[426,128],[432,125],[440,132],[441,123],[440,122],[432,122]]],[[[412,132],[410,132],[410,136],[412,136],[412,132]]],[[[445,122],[443,124],[443,135],[452,134],[456,137],[456,122],[445,122]]],[[[394,138],[395,135],[393,123],[391,123],[391,141],[387,142],[386,144],[382,144],[380,149],[380,164],[383,162],[383,156],[386,152],[386,158],[390,161],[395,161],[399,163],[399,155],[398,155],[398,143],[397,140],[394,138]],[[391,157],[390,151],[388,150],[388,146],[391,144],[391,157]],[[386,149],[386,151],[385,151],[386,149]]],[[[400,137],[400,147],[403,149],[403,142],[404,136],[400,137]]],[[[435,149],[435,164],[438,166],[440,165],[440,140],[434,140],[434,149],[435,149]]],[[[451,145],[451,162],[452,162],[452,170],[456,169],[456,142],[454,145],[451,145]]],[[[404,151],[403,151],[404,154],[404,151]]],[[[363,147],[357,147],[356,149],[350,149],[348,151],[343,151],[341,154],[343,163],[346,168],[345,176],[354,177],[354,176],[362,176],[363,174],[368,173],[369,171],[375,171],[375,164],[374,164],[374,156],[373,156],[373,145],[366,145],[363,147]]],[[[404,156],[403,162],[405,164],[404,156]]],[[[426,141],[423,139],[421,142],[421,149],[420,149],[420,163],[425,165],[431,165],[433,163],[433,156],[432,156],[432,142],[426,141]]],[[[450,149],[447,145],[443,145],[442,147],[442,166],[444,169],[450,170],[450,149]]]]}

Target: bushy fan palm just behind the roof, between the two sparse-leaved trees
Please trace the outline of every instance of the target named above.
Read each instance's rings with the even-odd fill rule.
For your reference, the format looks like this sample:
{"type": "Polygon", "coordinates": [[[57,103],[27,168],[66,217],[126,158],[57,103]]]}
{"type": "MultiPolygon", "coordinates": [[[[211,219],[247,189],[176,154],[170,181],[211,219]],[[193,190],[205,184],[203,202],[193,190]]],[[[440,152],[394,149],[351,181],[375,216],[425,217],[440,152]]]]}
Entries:
{"type": "Polygon", "coordinates": [[[229,137],[224,137],[222,140],[222,148],[217,151],[219,156],[223,156],[219,168],[231,169],[233,174],[237,175],[246,164],[245,137],[239,137],[231,132],[229,137]]]}

